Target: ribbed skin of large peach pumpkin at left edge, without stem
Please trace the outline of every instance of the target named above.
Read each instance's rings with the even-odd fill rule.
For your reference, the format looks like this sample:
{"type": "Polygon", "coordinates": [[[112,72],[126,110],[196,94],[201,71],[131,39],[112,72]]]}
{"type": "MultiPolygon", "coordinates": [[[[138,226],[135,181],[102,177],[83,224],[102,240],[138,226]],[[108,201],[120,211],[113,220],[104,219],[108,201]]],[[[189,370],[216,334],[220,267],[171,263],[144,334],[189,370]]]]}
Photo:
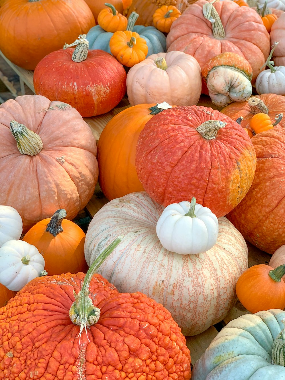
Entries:
{"type": "Polygon", "coordinates": [[[19,96],[0,106],[0,135],[0,204],[19,212],[23,232],[60,208],[68,219],[76,217],[98,178],[96,141],[76,109],[40,95],[19,96]],[[11,120],[40,136],[38,154],[20,154],[11,120]]]}

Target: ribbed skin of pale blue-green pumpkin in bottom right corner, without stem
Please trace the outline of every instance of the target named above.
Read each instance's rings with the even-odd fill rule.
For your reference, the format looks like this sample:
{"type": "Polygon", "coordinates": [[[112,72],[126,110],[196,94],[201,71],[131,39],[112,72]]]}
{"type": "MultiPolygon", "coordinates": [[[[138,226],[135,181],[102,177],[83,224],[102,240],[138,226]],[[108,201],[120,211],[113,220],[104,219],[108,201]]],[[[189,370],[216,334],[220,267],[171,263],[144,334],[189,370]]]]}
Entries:
{"type": "Polygon", "coordinates": [[[196,361],[191,380],[285,380],[285,368],[271,364],[273,342],[284,325],[284,310],[245,314],[230,321],[196,361]]]}

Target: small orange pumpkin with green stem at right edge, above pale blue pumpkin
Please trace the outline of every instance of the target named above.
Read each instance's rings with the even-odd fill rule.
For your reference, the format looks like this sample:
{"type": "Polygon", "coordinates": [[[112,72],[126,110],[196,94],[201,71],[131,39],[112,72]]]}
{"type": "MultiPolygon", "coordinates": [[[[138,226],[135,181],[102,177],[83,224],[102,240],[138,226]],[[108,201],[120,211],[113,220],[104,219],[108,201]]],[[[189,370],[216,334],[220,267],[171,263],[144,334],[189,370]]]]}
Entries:
{"type": "Polygon", "coordinates": [[[241,274],[236,283],[236,295],[251,313],[284,309],[285,264],[274,269],[266,264],[253,265],[241,274]]]}

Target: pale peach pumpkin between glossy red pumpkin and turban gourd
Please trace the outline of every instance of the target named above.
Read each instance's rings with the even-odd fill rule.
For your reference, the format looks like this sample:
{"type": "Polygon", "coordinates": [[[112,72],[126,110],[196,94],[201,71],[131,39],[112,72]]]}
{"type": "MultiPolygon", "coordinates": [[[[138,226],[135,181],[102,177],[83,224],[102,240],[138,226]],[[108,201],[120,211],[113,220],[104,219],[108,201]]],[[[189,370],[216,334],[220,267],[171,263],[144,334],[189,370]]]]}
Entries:
{"type": "Polygon", "coordinates": [[[127,93],[131,106],[163,103],[192,106],[202,89],[201,69],[195,58],[180,51],[152,54],[130,69],[127,93]]]}

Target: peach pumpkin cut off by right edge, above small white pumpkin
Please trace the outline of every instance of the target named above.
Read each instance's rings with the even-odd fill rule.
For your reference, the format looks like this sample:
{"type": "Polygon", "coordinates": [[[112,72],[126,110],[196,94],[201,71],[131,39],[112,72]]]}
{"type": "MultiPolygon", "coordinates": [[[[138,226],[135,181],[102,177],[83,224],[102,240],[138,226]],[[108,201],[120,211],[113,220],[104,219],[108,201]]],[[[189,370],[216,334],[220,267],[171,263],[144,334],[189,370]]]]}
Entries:
{"type": "Polygon", "coordinates": [[[274,50],[275,66],[285,66],[285,13],[283,13],[272,25],[270,32],[271,45],[276,41],[279,44],[274,50]]]}

